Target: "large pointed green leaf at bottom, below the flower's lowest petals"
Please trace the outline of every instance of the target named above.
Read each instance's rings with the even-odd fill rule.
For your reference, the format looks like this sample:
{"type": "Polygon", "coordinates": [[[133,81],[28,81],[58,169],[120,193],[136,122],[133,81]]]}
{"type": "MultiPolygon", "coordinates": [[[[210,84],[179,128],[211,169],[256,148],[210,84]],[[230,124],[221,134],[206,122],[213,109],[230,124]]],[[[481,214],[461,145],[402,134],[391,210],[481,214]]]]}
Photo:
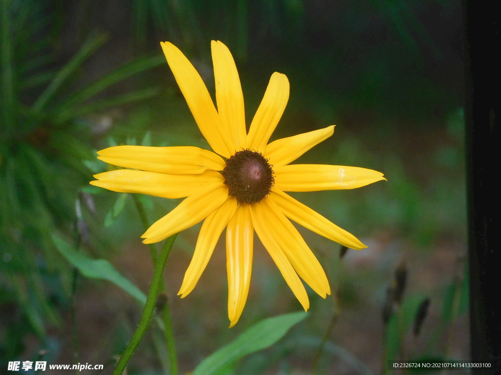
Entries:
{"type": "Polygon", "coordinates": [[[280,340],[287,331],[307,316],[306,312],[270,317],[261,320],[240,334],[233,342],[223,346],[196,366],[192,375],[228,374],[236,360],[247,354],[265,349],[280,340]]]}

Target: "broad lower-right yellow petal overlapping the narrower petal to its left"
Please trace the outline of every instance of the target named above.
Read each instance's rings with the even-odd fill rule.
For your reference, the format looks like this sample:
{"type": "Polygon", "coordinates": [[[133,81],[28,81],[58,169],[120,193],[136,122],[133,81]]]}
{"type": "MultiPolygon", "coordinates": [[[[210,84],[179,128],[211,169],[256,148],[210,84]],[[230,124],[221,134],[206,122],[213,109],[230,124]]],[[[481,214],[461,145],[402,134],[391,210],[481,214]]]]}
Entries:
{"type": "Polygon", "coordinates": [[[268,229],[298,275],[320,296],[331,293],[329,281],[315,254],[310,250],[298,229],[285,217],[273,198],[261,201],[268,229]]]}

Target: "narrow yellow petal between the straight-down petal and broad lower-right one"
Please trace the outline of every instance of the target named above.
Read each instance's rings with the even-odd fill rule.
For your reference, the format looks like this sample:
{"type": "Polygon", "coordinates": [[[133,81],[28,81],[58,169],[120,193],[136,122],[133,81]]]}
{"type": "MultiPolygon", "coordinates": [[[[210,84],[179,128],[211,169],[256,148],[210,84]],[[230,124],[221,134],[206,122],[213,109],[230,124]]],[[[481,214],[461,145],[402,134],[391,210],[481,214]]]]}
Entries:
{"type": "Polygon", "coordinates": [[[308,299],[306,289],[301,282],[298,274],[294,270],[291,262],[284,254],[284,251],[270,231],[268,227],[270,220],[266,216],[266,213],[263,209],[264,204],[262,204],[262,202],[263,200],[260,203],[255,203],[250,206],[250,216],[252,216],[252,221],[254,228],[256,229],[256,233],[258,233],[261,242],[263,242],[263,245],[270,253],[270,256],[272,257],[275,264],[277,264],[277,267],[282,273],[282,276],[284,276],[284,279],[291,288],[292,292],[294,293],[296,298],[298,298],[305,311],[307,311],[310,307],[310,301],[308,299]]]}

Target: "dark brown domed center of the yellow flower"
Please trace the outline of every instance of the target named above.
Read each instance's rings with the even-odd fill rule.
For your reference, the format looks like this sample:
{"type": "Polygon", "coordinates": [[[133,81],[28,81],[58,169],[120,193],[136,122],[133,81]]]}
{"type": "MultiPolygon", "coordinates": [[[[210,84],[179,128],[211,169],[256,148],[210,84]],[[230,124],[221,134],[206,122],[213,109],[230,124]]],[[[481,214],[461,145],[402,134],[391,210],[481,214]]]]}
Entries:
{"type": "Polygon", "coordinates": [[[275,182],[272,166],[257,151],[244,149],[226,160],[222,171],[229,195],[238,203],[256,203],[264,199],[275,182]]]}

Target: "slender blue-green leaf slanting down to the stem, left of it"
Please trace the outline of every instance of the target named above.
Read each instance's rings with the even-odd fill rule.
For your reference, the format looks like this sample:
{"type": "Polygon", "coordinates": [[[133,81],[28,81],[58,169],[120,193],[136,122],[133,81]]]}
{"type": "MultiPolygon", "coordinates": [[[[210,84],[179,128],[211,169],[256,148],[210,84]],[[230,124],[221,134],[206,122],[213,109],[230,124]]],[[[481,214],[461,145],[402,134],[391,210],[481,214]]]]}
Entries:
{"type": "Polygon", "coordinates": [[[77,251],[73,246],[56,236],[52,235],[59,252],[86,277],[108,280],[121,287],[142,304],[146,303],[144,294],[136,285],[122,276],[113,265],[105,259],[91,259],[83,252],[77,251]]]}

